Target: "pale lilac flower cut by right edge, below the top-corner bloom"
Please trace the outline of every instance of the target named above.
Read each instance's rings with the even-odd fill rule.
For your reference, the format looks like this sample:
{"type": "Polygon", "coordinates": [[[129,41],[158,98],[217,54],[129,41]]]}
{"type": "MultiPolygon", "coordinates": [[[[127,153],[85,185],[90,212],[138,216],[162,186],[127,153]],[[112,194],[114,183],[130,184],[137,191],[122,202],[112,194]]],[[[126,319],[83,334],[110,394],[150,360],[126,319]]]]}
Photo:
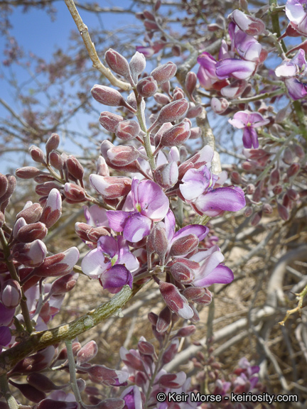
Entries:
{"type": "Polygon", "coordinates": [[[275,69],[276,77],[284,78],[284,82],[292,99],[301,99],[307,95],[307,84],[302,82],[306,77],[307,67],[305,51],[299,49],[296,55],[289,60],[281,62],[275,69]]]}

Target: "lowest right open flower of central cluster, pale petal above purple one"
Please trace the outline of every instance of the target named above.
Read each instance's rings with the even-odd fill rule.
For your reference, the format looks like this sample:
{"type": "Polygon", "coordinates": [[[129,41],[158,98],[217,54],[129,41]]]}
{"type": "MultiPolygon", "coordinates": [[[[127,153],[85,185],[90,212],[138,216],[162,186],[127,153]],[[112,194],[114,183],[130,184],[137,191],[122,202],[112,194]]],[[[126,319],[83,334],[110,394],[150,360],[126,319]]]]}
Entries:
{"type": "Polygon", "coordinates": [[[208,287],[215,283],[228,284],[234,279],[230,268],[221,264],[224,260],[218,246],[212,246],[209,250],[198,251],[190,257],[191,261],[200,264],[200,268],[195,269],[195,287],[208,287]]]}

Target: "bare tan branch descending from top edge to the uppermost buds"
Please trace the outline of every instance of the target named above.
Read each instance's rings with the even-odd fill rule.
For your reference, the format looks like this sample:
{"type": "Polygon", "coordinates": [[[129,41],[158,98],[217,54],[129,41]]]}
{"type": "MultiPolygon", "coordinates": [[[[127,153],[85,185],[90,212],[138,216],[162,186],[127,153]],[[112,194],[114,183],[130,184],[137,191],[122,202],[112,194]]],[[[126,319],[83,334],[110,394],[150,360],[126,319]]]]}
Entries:
{"type": "Polygon", "coordinates": [[[74,19],[77,29],[80,32],[80,35],[82,36],[82,40],[85,43],[85,47],[87,49],[87,53],[90,55],[90,59],[92,60],[93,67],[96,68],[99,72],[106,77],[109,82],[111,82],[114,87],[119,87],[123,89],[124,91],[129,91],[131,89],[131,85],[128,84],[128,82],[124,82],[121,80],[118,80],[117,77],[114,77],[112,74],[111,70],[109,68],[104,67],[102,62],[99,60],[99,57],[97,55],[95,45],[92,43],[92,40],[90,38],[90,33],[88,32],[87,26],[85,26],[85,23],[83,23],[82,18],[80,17],[80,14],[78,13],[75,3],[73,0],[65,0],[66,6],[68,6],[68,10],[70,11],[70,14],[72,15],[72,18],[74,19]]]}

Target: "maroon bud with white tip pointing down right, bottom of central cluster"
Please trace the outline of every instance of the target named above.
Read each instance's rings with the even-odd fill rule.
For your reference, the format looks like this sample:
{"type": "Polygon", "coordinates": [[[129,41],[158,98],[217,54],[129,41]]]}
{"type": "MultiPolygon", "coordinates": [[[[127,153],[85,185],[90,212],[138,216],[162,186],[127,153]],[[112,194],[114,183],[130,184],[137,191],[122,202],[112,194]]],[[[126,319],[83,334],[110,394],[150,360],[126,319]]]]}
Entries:
{"type": "Polygon", "coordinates": [[[163,300],[171,311],[180,315],[180,317],[185,318],[185,320],[193,317],[194,313],[190,305],[188,305],[188,300],[179,293],[179,290],[175,285],[160,281],[159,288],[163,300]]]}

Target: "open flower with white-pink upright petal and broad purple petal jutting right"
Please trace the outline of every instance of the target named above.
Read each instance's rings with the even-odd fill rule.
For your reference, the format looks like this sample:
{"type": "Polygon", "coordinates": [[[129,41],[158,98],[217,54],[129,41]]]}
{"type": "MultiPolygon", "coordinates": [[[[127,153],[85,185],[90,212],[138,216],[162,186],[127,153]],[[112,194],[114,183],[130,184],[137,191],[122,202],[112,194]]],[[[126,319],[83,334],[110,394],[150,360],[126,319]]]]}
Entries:
{"type": "Polygon", "coordinates": [[[198,214],[218,216],[227,210],[237,212],[245,206],[244,192],[239,187],[217,187],[219,177],[212,175],[208,165],[188,170],[179,186],[185,202],[190,203],[198,214]]]}

